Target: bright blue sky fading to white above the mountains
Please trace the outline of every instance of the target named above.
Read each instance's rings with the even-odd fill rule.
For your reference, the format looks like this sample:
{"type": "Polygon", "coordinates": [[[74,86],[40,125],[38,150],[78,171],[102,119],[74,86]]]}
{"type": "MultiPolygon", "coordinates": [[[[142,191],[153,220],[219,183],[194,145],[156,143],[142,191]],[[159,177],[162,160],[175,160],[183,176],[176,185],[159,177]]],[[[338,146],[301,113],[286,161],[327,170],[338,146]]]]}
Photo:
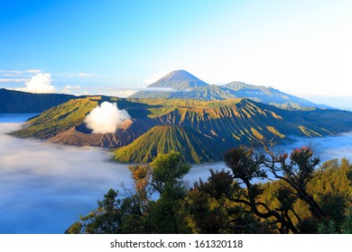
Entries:
{"type": "Polygon", "coordinates": [[[1,1],[0,38],[0,87],[124,96],[185,69],[352,107],[347,0],[1,1]]]}

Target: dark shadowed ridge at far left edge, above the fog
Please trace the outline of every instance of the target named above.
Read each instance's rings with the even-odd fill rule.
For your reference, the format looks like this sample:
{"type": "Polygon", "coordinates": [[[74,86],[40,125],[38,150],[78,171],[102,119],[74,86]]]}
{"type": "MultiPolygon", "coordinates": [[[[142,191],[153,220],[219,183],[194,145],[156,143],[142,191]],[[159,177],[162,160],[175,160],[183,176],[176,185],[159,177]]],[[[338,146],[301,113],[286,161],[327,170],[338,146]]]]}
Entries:
{"type": "Polygon", "coordinates": [[[77,98],[69,94],[32,94],[0,88],[0,113],[43,112],[77,98]]]}

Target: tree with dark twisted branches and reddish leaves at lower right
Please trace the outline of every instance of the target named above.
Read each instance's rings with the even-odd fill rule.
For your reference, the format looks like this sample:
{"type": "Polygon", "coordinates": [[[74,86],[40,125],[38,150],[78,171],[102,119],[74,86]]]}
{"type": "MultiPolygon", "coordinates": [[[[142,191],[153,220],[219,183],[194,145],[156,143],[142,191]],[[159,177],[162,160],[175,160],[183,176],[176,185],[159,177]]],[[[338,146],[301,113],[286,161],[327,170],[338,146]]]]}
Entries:
{"type": "MultiPolygon", "coordinates": [[[[233,202],[242,203],[250,208],[256,216],[267,220],[269,224],[277,224],[277,229],[282,232],[316,233],[341,232],[341,225],[346,219],[347,198],[349,190],[345,190],[348,175],[351,168],[346,159],[338,167],[336,162],[330,162],[331,166],[338,167],[338,186],[344,187],[341,191],[332,192],[332,188],[319,193],[312,193],[312,180],[321,173],[328,174],[330,169],[327,165],[320,170],[320,158],[314,157],[311,148],[295,148],[291,154],[274,153],[272,149],[265,148],[264,152],[254,151],[251,148],[239,147],[229,150],[225,156],[225,163],[232,171],[236,183],[245,184],[245,190],[241,194],[234,194],[233,202]],[[264,168],[266,172],[264,172],[264,168]],[[267,173],[279,184],[272,193],[276,205],[269,206],[263,199],[263,189],[252,182],[253,179],[265,178],[267,173]],[[304,202],[310,214],[300,216],[295,210],[297,202],[304,202]]],[[[329,176],[329,183],[332,176],[329,176]]],[[[324,181],[319,181],[325,183],[324,181]]],[[[334,182],[335,183],[335,182],[334,182]]],[[[274,226],[273,226],[274,227],[274,226]]]]}

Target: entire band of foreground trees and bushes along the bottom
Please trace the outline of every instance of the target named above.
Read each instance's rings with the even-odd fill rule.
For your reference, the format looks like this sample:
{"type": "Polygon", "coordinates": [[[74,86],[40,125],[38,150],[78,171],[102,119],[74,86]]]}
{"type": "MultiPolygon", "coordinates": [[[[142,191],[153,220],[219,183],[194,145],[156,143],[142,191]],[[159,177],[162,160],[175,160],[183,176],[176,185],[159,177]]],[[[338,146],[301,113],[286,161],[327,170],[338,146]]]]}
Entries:
{"type": "Polygon", "coordinates": [[[351,186],[346,159],[324,163],[310,148],[289,155],[230,149],[227,169],[207,181],[184,182],[190,166],[171,150],[147,166],[130,166],[134,190],[110,190],[97,210],[66,233],[351,233],[351,186]],[[266,172],[264,172],[266,167],[266,172]],[[272,173],[271,183],[254,179],[272,173]],[[244,186],[245,185],[245,186],[244,186]],[[156,193],[158,198],[151,199],[156,193]]]}

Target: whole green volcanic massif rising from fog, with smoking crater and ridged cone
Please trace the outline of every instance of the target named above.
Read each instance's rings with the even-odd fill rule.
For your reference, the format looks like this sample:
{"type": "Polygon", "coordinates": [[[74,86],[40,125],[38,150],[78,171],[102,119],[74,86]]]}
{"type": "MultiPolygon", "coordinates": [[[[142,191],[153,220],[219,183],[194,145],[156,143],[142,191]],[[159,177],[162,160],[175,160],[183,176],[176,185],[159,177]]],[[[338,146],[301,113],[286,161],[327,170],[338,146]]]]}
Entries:
{"type": "Polygon", "coordinates": [[[190,163],[222,159],[228,148],[259,139],[324,137],[352,130],[352,112],[329,109],[288,111],[238,98],[222,101],[122,99],[108,96],[70,100],[26,122],[18,137],[116,148],[121,162],[149,162],[158,153],[180,150],[190,163]],[[92,133],[85,118],[103,102],[117,103],[131,119],[115,133],[92,133]]]}

